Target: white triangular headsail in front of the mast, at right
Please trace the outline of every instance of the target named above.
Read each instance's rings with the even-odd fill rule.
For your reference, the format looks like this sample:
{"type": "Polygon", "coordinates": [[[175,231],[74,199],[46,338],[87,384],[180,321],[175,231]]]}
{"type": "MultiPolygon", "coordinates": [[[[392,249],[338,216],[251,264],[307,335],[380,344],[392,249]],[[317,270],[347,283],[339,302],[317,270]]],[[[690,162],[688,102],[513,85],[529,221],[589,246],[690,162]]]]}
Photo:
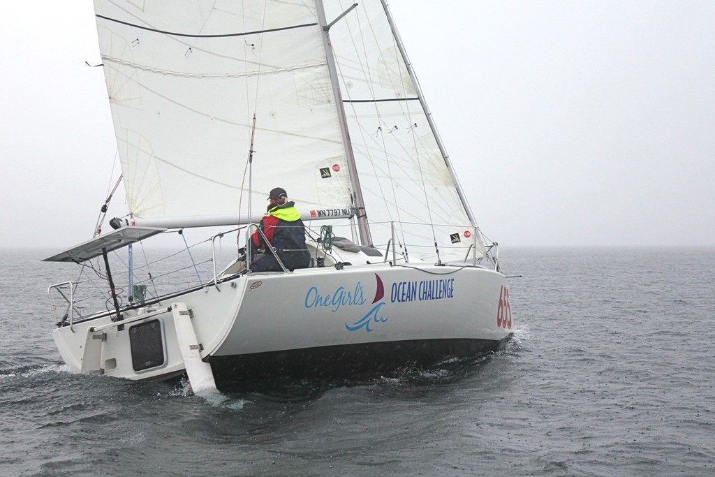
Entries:
{"type": "MultiPolygon", "coordinates": [[[[326,1],[328,19],[352,3],[326,1]]],[[[389,235],[395,222],[410,255],[435,258],[436,242],[443,260],[464,259],[474,246],[481,256],[475,224],[383,3],[360,1],[330,29],[372,235],[389,235]]]]}

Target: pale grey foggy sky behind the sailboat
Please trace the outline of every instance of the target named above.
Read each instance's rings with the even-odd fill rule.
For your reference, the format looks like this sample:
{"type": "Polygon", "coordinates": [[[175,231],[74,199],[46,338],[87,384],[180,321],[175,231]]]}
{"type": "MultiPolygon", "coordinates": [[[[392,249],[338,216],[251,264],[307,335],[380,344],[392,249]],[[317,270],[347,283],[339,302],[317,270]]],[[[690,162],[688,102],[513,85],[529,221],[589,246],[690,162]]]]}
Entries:
{"type": "MultiPolygon", "coordinates": [[[[715,245],[715,2],[390,8],[488,237],[715,245]]],[[[87,240],[116,150],[92,2],[6,2],[0,59],[0,245],[87,240]]]]}

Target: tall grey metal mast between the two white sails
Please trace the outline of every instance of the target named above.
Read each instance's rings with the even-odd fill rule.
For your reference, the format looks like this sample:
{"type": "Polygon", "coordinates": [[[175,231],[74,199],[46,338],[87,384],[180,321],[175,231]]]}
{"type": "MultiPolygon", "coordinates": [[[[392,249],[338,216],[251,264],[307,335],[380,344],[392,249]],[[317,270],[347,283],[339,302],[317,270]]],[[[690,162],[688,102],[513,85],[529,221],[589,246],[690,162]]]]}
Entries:
{"type": "MultiPolygon", "coordinates": [[[[358,4],[353,4],[350,11],[355,8],[358,4]]],[[[360,188],[360,179],[358,177],[358,167],[355,165],[355,155],[352,152],[352,143],[350,142],[350,133],[347,131],[347,118],[345,117],[345,109],[342,106],[342,94],[340,93],[340,84],[337,82],[337,67],[335,66],[335,55],[332,51],[332,44],[330,43],[330,26],[335,23],[338,19],[345,16],[347,11],[343,13],[340,17],[335,19],[330,24],[327,24],[325,19],[325,8],[323,7],[322,0],[315,0],[315,8],[317,10],[318,23],[320,24],[320,29],[322,31],[322,43],[325,49],[325,57],[327,59],[327,69],[330,72],[330,84],[332,84],[332,94],[335,98],[335,108],[337,109],[337,116],[340,122],[340,134],[342,135],[342,145],[345,149],[345,156],[347,159],[347,169],[350,175],[350,184],[352,185],[352,190],[354,193],[355,207],[358,209],[358,232],[360,233],[360,242],[363,245],[373,245],[373,238],[370,235],[370,226],[368,225],[368,215],[365,210],[365,201],[363,200],[363,190],[360,188]]],[[[390,23],[391,25],[391,23],[390,23]]]]}

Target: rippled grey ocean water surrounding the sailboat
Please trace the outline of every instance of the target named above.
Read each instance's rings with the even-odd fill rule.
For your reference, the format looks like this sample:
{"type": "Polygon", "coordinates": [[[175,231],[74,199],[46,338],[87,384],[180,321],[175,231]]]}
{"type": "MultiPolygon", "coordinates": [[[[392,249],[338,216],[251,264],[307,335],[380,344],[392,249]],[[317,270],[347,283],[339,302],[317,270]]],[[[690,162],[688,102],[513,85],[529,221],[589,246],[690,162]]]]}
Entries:
{"type": "Polygon", "coordinates": [[[1,476],[715,475],[715,249],[503,247],[505,350],[214,400],[70,373],[47,255],[0,254],[1,476]]]}

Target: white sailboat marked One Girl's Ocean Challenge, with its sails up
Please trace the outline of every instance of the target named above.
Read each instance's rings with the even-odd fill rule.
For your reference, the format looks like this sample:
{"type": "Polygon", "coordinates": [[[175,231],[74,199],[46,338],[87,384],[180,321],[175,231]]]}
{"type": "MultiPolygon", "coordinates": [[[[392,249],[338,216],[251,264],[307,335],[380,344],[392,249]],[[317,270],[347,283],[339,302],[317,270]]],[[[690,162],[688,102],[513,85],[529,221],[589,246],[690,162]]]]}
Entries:
{"type": "Polygon", "coordinates": [[[71,370],[186,373],[198,394],[246,377],[382,373],[511,338],[498,245],[473,217],[387,1],[94,9],[128,213],[45,259],[107,280],[94,311],[79,303],[84,280],[48,289],[71,370]],[[310,266],[252,272],[244,249],[274,187],[300,211],[310,266]],[[212,247],[209,279],[139,297],[130,254],[117,285],[112,257],[193,227],[234,227],[235,257],[217,269],[212,247]]]}

